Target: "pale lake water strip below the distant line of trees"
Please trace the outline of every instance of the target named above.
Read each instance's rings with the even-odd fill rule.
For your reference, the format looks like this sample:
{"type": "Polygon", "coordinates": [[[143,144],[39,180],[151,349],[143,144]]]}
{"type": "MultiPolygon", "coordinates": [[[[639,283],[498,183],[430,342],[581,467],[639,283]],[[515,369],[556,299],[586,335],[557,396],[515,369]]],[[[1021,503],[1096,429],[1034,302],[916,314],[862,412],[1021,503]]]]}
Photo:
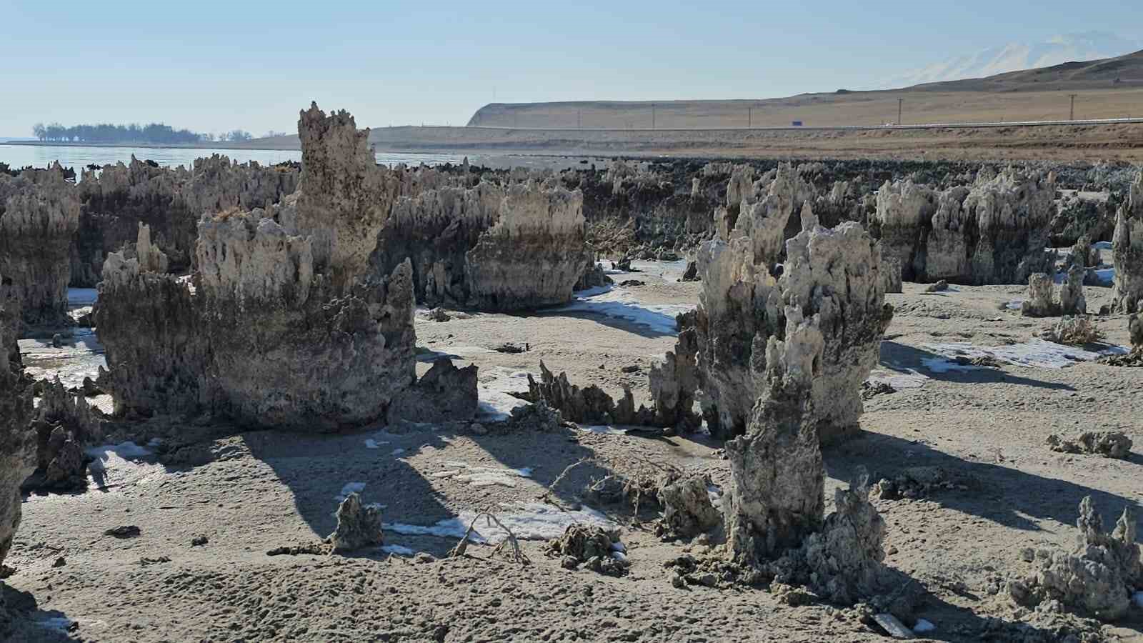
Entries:
{"type": "MultiPolygon", "coordinates": [[[[10,167],[45,167],[51,161],[59,161],[64,167],[75,168],[79,174],[80,168],[95,164],[104,166],[123,161],[130,162],[131,154],[144,160],[150,159],[162,166],[185,166],[194,165],[194,159],[209,157],[210,154],[225,154],[231,160],[247,162],[256,160],[262,165],[273,165],[282,161],[302,160],[301,150],[218,150],[210,148],[105,148],[93,145],[5,145],[0,144],[0,162],[6,162],[10,167]]],[[[417,152],[381,152],[377,153],[377,162],[395,165],[405,162],[408,165],[440,165],[443,162],[457,164],[464,159],[464,154],[447,153],[417,153],[417,152]]]]}

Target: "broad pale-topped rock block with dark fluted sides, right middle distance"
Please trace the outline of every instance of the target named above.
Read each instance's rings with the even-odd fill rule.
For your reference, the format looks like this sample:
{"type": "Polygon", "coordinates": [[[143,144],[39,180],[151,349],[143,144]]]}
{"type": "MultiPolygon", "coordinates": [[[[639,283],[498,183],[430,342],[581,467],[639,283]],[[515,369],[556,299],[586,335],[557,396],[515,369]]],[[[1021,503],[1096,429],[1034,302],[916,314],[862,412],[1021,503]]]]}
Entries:
{"type": "Polygon", "coordinates": [[[885,255],[901,261],[906,280],[1016,284],[1050,267],[1044,248],[1054,196],[1054,177],[1013,168],[942,192],[886,183],[871,231],[885,255]]]}

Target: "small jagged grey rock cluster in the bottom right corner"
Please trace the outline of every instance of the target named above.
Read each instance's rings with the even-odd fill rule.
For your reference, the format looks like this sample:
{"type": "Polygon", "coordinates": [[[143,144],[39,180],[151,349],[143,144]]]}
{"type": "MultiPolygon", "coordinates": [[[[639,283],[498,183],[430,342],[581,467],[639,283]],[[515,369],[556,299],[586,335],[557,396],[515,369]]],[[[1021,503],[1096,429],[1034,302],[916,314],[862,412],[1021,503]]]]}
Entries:
{"type": "Polygon", "coordinates": [[[1079,505],[1079,527],[1071,551],[1028,550],[1032,571],[1008,584],[1008,592],[1020,604],[1036,606],[1058,601],[1068,609],[1100,620],[1113,621],[1130,609],[1132,587],[1143,585],[1140,546],[1135,542],[1135,515],[1128,506],[1111,533],[1103,532],[1103,519],[1088,495],[1079,505]]]}

